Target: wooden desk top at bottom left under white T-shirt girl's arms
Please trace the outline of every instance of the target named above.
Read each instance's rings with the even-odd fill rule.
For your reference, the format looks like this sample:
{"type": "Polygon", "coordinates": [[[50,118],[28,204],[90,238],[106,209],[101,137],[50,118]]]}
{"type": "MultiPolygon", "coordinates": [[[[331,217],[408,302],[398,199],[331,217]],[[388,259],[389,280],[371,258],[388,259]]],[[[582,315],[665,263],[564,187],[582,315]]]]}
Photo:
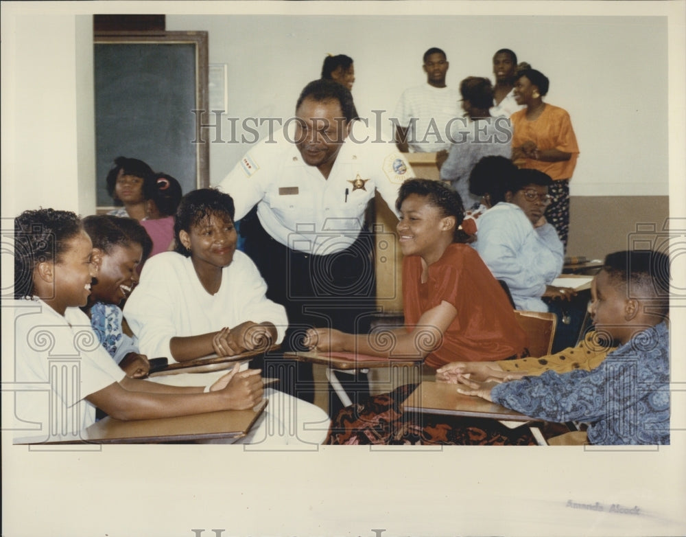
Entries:
{"type": "Polygon", "coordinates": [[[265,399],[252,410],[224,410],[177,418],[123,422],[103,418],[81,433],[80,439],[38,437],[15,439],[14,444],[158,444],[244,437],[268,404],[265,399]]]}

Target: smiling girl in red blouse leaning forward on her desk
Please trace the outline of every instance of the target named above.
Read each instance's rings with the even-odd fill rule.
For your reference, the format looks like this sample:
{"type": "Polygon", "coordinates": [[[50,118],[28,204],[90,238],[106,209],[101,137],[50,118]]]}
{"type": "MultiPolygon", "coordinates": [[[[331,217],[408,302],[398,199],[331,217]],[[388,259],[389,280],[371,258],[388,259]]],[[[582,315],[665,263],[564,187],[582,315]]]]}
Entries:
{"type": "Polygon", "coordinates": [[[405,256],[405,328],[395,330],[392,350],[375,345],[373,333],[322,328],[308,330],[305,345],[320,351],[416,356],[434,369],[458,356],[484,361],[521,355],[526,336],[506,293],[475,251],[462,243],[459,194],[439,181],[410,179],[401,185],[396,207],[405,256]]]}

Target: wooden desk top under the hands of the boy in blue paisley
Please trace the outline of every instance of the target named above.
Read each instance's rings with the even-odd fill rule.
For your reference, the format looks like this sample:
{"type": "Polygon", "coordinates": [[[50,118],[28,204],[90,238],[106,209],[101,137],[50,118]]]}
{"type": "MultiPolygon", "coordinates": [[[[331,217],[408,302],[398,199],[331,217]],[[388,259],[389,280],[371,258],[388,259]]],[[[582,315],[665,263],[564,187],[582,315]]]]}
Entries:
{"type": "Polygon", "coordinates": [[[425,412],[473,418],[493,418],[513,422],[538,421],[480,397],[458,393],[457,385],[422,382],[403,402],[405,412],[425,412]]]}

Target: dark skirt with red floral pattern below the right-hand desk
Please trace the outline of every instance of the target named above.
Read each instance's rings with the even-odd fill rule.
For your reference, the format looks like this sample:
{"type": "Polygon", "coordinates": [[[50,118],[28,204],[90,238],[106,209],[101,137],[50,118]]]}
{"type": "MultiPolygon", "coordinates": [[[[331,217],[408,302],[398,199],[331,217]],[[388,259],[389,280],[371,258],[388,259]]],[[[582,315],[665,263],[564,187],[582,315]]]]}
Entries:
{"type": "Polygon", "coordinates": [[[497,420],[403,413],[401,404],[416,384],[400,386],[342,409],[331,422],[326,444],[421,444],[448,446],[533,446],[528,426],[509,429],[497,420]]]}

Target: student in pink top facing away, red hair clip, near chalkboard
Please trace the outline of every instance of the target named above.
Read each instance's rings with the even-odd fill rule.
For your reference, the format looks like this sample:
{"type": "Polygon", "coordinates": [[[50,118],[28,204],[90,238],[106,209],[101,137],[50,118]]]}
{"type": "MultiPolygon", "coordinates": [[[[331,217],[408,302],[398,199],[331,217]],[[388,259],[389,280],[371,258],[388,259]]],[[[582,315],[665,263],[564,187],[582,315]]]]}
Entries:
{"type": "Polygon", "coordinates": [[[141,225],[152,239],[151,256],[174,249],[174,214],[182,195],[181,185],[171,175],[158,173],[145,179],[141,225]]]}

